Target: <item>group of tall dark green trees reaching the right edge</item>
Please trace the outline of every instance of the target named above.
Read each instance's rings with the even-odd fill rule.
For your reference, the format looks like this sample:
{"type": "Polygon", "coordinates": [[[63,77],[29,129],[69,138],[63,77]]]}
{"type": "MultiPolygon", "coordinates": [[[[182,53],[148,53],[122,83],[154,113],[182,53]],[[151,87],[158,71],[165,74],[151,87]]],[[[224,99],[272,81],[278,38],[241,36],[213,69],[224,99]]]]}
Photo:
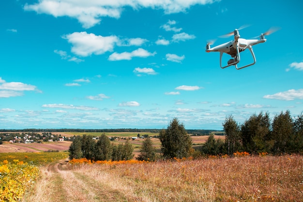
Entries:
{"type": "Polygon", "coordinates": [[[253,114],[243,124],[232,115],[223,123],[225,142],[213,137],[204,144],[204,154],[228,154],[245,151],[250,154],[267,152],[273,155],[303,153],[303,114],[292,118],[289,110],[271,120],[269,113],[253,114]],[[208,149],[211,148],[211,149],[208,149]],[[215,148],[215,149],[214,149],[215,148]]]}

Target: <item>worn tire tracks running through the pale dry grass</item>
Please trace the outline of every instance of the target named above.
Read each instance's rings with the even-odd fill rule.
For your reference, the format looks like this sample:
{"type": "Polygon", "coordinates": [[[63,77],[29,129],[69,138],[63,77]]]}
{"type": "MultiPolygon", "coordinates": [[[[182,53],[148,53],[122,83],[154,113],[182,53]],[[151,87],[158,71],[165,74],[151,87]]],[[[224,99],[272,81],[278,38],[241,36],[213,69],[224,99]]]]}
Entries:
{"type": "Polygon", "coordinates": [[[113,190],[100,181],[74,171],[68,159],[49,164],[47,172],[53,187],[53,202],[129,202],[122,192],[113,190]]]}

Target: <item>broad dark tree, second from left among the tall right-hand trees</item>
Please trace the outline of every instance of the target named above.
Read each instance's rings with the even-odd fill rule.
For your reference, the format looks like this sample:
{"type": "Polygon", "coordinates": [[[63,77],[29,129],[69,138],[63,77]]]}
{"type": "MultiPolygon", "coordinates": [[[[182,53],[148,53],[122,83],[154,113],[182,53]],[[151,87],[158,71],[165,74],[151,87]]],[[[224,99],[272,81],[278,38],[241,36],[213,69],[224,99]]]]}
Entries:
{"type": "Polygon", "coordinates": [[[241,126],[241,138],[243,149],[250,153],[261,153],[269,151],[269,134],[270,134],[271,120],[269,113],[263,114],[261,111],[259,115],[253,114],[241,126]]]}

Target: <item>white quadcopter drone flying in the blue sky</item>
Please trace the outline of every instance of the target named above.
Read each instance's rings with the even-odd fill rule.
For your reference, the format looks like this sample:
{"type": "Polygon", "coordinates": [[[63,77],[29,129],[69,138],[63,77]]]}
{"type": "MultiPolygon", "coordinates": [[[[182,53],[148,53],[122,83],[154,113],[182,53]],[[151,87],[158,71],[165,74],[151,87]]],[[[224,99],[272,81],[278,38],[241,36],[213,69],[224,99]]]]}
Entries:
{"type": "Polygon", "coordinates": [[[270,35],[274,31],[277,30],[277,28],[271,28],[269,31],[266,31],[264,33],[261,33],[258,37],[259,39],[243,39],[240,38],[239,30],[243,28],[235,29],[234,31],[227,33],[223,35],[223,37],[226,36],[232,36],[234,35],[234,39],[232,41],[229,41],[227,43],[221,44],[216,47],[212,47],[214,41],[209,41],[206,45],[206,52],[220,52],[220,67],[222,69],[227,68],[231,65],[235,65],[236,69],[243,69],[245,67],[251,66],[256,63],[256,57],[255,53],[253,51],[253,47],[256,44],[264,43],[266,42],[265,36],[270,35]],[[253,56],[254,62],[250,64],[246,64],[244,66],[238,67],[238,63],[240,62],[240,53],[246,49],[250,50],[250,53],[253,56]],[[232,59],[228,60],[226,66],[222,66],[222,56],[223,53],[227,53],[231,56],[232,59]]]}

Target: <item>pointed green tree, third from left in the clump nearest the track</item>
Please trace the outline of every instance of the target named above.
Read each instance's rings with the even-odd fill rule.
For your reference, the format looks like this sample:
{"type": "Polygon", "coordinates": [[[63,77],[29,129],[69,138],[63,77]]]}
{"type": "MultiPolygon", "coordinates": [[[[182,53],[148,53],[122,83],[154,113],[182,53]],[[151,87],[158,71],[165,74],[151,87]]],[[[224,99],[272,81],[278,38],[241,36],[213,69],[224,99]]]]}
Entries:
{"type": "Polygon", "coordinates": [[[111,159],[112,148],[109,138],[103,133],[96,143],[94,157],[96,161],[111,159]]]}

